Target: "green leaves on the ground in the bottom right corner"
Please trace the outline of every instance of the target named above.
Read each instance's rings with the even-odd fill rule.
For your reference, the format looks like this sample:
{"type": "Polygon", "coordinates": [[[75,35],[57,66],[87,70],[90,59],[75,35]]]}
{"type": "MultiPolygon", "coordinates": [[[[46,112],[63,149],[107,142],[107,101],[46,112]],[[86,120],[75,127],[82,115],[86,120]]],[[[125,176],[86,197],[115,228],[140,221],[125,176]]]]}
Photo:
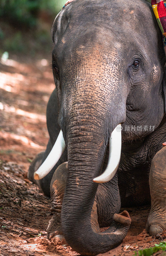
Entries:
{"type": "Polygon", "coordinates": [[[166,251],[166,242],[165,241],[162,241],[160,244],[155,244],[154,247],[150,247],[150,248],[147,248],[147,249],[144,249],[144,250],[140,250],[138,251],[138,254],[137,252],[134,253],[134,256],[151,256],[153,255],[153,253],[155,252],[158,252],[158,251],[166,251]]]}

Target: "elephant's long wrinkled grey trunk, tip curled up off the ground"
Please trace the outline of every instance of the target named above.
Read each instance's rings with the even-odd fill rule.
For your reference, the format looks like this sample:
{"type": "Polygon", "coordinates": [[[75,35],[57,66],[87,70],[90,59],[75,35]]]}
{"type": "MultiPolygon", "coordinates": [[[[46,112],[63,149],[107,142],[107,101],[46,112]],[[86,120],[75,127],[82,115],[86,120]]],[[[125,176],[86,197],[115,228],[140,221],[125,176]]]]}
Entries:
{"type": "Polygon", "coordinates": [[[91,212],[98,184],[93,179],[101,174],[109,137],[103,120],[91,116],[74,117],[68,131],[68,177],[62,205],[62,228],[66,241],[82,255],[96,255],[119,245],[131,220],[126,213],[114,214],[112,226],[95,233],[91,226],[91,212]]]}

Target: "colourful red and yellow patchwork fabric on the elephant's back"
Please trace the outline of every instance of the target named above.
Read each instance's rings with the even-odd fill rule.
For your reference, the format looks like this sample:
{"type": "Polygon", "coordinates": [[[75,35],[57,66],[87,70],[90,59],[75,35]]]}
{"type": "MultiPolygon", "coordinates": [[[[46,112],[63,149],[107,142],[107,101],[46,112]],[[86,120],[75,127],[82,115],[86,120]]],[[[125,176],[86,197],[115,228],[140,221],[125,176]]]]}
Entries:
{"type": "Polygon", "coordinates": [[[162,31],[164,49],[166,52],[166,2],[163,0],[152,0],[151,4],[159,27],[162,31]]]}

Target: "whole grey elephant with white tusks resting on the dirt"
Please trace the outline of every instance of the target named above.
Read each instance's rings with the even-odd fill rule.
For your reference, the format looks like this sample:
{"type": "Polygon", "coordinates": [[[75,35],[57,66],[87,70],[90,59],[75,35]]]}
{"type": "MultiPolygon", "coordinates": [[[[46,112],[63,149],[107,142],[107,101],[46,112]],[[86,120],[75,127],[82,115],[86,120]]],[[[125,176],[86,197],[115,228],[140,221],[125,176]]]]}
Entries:
{"type": "Polygon", "coordinates": [[[150,202],[146,230],[162,233],[166,58],[151,5],[72,1],[57,15],[52,40],[50,139],[28,173],[51,197],[47,237],[82,255],[107,252],[130,227],[120,208],[150,202]]]}

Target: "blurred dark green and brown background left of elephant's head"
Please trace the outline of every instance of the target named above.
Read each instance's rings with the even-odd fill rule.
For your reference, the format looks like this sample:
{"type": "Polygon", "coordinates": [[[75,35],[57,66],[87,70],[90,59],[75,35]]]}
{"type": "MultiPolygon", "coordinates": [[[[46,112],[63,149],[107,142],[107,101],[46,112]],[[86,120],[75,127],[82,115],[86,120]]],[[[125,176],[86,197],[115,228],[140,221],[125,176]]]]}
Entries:
{"type": "Polygon", "coordinates": [[[51,52],[51,25],[65,0],[0,0],[0,55],[51,52]]]}

